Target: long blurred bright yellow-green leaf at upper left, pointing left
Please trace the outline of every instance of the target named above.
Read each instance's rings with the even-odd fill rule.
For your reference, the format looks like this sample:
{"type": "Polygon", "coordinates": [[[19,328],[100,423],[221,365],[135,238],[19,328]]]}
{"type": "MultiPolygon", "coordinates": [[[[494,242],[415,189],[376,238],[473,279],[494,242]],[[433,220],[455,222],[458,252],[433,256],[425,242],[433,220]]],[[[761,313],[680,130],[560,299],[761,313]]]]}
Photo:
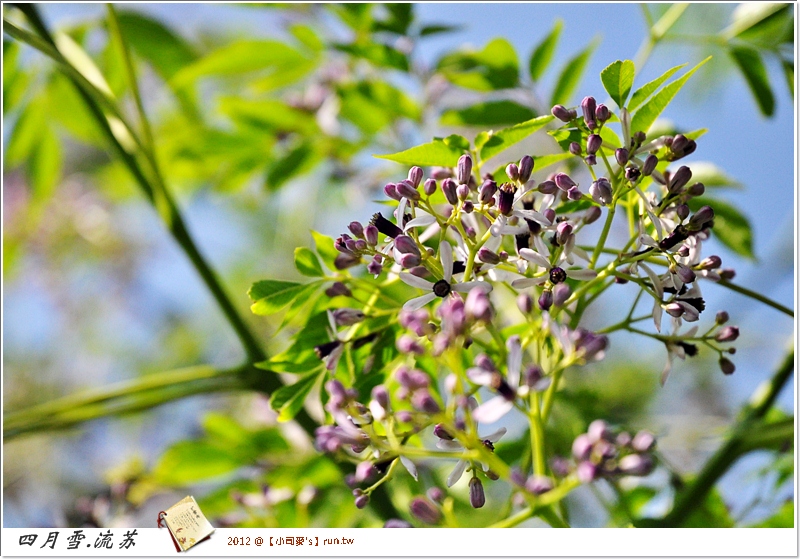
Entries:
{"type": "Polygon", "coordinates": [[[170,80],[176,88],[205,76],[230,76],[258,70],[291,68],[307,62],[299,51],[280,41],[240,40],[210,52],[181,68],[170,80]]]}

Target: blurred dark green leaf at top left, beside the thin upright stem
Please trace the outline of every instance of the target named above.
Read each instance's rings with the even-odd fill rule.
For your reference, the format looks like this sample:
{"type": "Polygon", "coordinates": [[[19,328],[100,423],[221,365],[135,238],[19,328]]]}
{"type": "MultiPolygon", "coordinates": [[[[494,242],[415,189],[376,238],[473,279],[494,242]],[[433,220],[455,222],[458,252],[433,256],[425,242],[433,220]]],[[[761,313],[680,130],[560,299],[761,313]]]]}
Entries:
{"type": "Polygon", "coordinates": [[[197,60],[194,49],[162,23],[139,12],[120,11],[117,16],[125,41],[165,81],[197,60]]]}

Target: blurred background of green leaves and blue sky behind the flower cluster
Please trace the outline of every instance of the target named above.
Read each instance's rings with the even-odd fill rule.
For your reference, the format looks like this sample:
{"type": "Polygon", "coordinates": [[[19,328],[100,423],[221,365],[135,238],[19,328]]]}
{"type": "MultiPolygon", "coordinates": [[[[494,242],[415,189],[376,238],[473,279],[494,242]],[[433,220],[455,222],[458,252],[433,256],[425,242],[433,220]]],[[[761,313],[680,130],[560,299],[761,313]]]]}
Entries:
{"type": "MultiPolygon", "coordinates": [[[[658,21],[668,8],[644,10],[658,21]]],[[[24,23],[14,8],[3,9],[24,23]]],[[[752,254],[716,240],[707,253],[735,267],[738,283],[793,307],[794,6],[756,15],[749,9],[689,6],[637,67],[637,84],[714,55],[665,112],[671,122],[660,125],[709,129],[692,163],[713,162],[716,180],[730,187],[721,197],[749,220],[752,254]],[[742,45],[751,55],[744,65],[734,55],[742,45]],[[753,52],[763,66],[752,62],[753,52]]],[[[39,10],[51,31],[85,49],[134,115],[105,6],[39,10]]],[[[373,154],[507,126],[546,114],[553,101],[602,99],[600,70],[618,58],[641,60],[649,28],[633,4],[117,10],[166,182],[200,251],[271,353],[286,347],[288,332],[250,315],[247,288],[264,277],[296,279],[292,253],[311,245],[311,229],[336,236],[381,207],[375,201],[383,184],[406,170],[373,154]],[[551,60],[532,66],[532,52],[554,26],[560,36],[551,60]],[[476,104],[481,110],[463,110],[476,104]]],[[[242,352],[216,302],[109,155],[69,81],[7,35],[3,59],[4,412],[177,367],[235,364],[242,352]]],[[[534,136],[518,154],[546,153],[547,140],[534,136]]],[[[624,312],[617,307],[628,296],[620,289],[602,299],[588,327],[609,324],[606,317],[624,312]]],[[[574,405],[560,408],[561,425],[574,424],[577,434],[586,419],[605,417],[649,428],[676,470],[696,470],[793,339],[792,320],[774,309],[712,285],[704,296],[711,313],[727,309],[742,329],[733,377],[701,357],[679,363],[660,389],[663,346],[615,334],[607,360],[570,384],[564,400],[574,405]]],[[[789,414],[793,393],[785,390],[780,400],[789,414]]],[[[338,471],[310,452],[292,462],[273,426],[265,397],[224,392],[5,440],[4,526],[152,526],[158,510],[190,490],[220,523],[369,524],[346,490],[332,489],[326,507],[318,505],[310,487],[336,486],[338,471]],[[201,442],[181,454],[180,441],[204,436],[211,450],[201,442]],[[237,454],[242,447],[250,450],[237,454]],[[233,458],[195,472],[188,487],[171,477],[170,460],[203,461],[220,448],[233,458]],[[258,449],[284,458],[261,464],[258,449]],[[292,479],[295,467],[304,472],[300,479],[292,479]],[[265,479],[273,490],[260,503],[265,479]],[[233,486],[246,494],[239,499],[245,505],[231,498],[233,486]],[[312,508],[303,513],[296,504],[305,499],[312,508]],[[302,514],[311,520],[295,516],[302,514]]],[[[283,429],[308,449],[291,425],[283,429]]],[[[749,455],[722,480],[723,512],[739,524],[770,516],[793,498],[785,477],[788,471],[791,480],[791,468],[786,455],[749,455]]],[[[599,505],[607,497],[577,491],[573,525],[605,525],[609,513],[599,505]]],[[[666,504],[648,506],[657,512],[666,504]]]]}

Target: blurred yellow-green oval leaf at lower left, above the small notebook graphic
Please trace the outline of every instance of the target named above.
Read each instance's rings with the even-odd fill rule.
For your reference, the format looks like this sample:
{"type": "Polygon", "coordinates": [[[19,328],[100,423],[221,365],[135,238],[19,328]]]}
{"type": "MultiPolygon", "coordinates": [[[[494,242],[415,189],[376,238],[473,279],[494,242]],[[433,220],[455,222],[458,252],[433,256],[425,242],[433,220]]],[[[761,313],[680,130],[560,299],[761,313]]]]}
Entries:
{"type": "Polygon", "coordinates": [[[225,449],[205,441],[181,441],[161,455],[155,481],[183,486],[227,474],[243,464],[225,449]]]}

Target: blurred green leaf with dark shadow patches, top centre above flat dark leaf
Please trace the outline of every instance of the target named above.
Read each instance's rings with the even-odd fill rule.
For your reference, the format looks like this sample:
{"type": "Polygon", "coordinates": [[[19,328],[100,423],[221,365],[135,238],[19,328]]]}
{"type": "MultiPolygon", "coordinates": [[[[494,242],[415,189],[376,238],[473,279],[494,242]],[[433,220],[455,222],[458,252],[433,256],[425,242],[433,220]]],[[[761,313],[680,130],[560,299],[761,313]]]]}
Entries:
{"type": "Polygon", "coordinates": [[[445,55],[436,67],[451,83],[476,91],[516,87],[519,61],[506,39],[489,41],[480,51],[459,51],[445,55]]]}

